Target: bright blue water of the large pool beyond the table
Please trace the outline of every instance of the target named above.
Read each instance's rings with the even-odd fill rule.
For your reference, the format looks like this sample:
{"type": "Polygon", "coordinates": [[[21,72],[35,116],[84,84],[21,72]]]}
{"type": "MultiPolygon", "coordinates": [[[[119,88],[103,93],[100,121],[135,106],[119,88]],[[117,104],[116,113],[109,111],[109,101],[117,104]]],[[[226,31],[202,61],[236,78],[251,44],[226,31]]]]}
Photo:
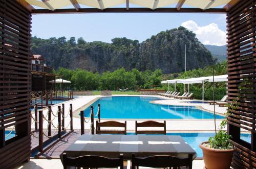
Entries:
{"type": "MultiPolygon", "coordinates": [[[[194,106],[168,106],[152,104],[150,101],[159,98],[145,96],[110,96],[98,99],[94,106],[97,113],[100,104],[101,118],[114,119],[213,119],[214,114],[197,109],[194,106]]],[[[84,116],[89,117],[90,106],[84,110],[84,116]]],[[[96,117],[96,116],[95,116],[96,117]]],[[[224,118],[216,115],[217,119],[224,118]]]]}

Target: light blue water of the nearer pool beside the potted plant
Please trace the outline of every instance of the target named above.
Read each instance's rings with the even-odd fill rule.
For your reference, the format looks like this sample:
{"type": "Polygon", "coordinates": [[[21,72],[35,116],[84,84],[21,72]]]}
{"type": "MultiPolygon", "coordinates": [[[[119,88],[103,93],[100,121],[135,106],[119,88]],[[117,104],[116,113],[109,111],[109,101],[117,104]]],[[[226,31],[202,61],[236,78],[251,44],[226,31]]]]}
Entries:
{"type": "MultiPolygon", "coordinates": [[[[135,133],[127,133],[134,135],[135,133]]],[[[197,152],[197,157],[203,157],[203,152],[199,147],[199,144],[204,141],[208,141],[209,137],[215,135],[215,133],[166,133],[167,135],[180,135],[188,144],[197,152]]],[[[241,139],[250,140],[249,134],[241,134],[241,139]]]]}

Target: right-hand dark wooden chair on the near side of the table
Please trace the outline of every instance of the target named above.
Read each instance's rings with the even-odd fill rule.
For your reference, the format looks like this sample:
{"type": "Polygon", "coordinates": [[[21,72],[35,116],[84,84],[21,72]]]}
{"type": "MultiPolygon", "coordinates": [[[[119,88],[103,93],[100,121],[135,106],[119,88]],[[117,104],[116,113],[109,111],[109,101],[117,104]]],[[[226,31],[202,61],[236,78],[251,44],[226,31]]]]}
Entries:
{"type": "Polygon", "coordinates": [[[157,155],[150,157],[135,157],[132,156],[132,169],[139,169],[139,166],[143,167],[154,167],[154,168],[181,168],[186,166],[187,169],[192,168],[193,155],[189,154],[188,157],[178,158],[174,156],[167,155],[157,155]]]}

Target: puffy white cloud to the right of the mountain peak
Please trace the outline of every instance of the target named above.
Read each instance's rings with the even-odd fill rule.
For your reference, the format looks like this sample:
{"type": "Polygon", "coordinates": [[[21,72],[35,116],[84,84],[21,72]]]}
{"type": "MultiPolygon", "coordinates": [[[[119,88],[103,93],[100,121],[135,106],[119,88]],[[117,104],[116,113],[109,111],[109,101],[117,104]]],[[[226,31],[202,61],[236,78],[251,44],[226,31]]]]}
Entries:
{"type": "Polygon", "coordinates": [[[209,25],[199,27],[193,20],[188,20],[181,23],[181,26],[193,31],[199,41],[203,44],[211,45],[225,45],[226,44],[226,32],[219,29],[216,23],[210,23],[209,25]]]}

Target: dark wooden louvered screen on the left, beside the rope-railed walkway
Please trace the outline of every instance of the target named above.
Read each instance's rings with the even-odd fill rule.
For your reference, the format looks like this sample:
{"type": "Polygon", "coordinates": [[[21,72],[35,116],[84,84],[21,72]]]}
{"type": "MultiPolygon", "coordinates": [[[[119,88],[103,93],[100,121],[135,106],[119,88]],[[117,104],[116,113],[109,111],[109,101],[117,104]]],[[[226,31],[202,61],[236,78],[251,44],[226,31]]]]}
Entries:
{"type": "Polygon", "coordinates": [[[30,30],[31,14],[16,1],[0,0],[0,168],[30,158],[30,30]]]}

